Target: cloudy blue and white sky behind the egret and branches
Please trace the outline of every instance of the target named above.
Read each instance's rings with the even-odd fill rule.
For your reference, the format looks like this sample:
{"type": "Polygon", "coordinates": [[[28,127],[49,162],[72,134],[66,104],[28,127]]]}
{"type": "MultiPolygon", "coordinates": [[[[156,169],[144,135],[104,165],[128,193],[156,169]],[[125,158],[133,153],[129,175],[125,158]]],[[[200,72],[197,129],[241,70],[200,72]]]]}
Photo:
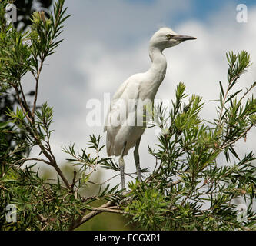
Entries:
{"type": "MultiPolygon", "coordinates": [[[[198,39],[165,50],[168,68],[156,98],[173,99],[182,81],[189,95],[203,97],[202,118],[216,117],[211,100],[218,98],[218,81],[226,85],[225,53],[231,50],[247,50],[254,62],[238,88],[256,80],[256,1],[67,0],[65,5],[72,15],[65,22],[65,41],[46,62],[38,95],[39,104],[48,101],[54,108],[52,149],[59,163],[68,158],[62,146],[75,143],[77,149],[85,148],[92,134],[101,135],[101,144],[105,144],[104,114],[100,126],[88,125],[88,101],[99,100],[104,108],[105,95],[112,96],[129,76],[147,71],[151,65],[148,42],[158,28],[168,26],[198,39]],[[247,6],[247,22],[238,22],[238,4],[247,6]]],[[[24,85],[30,91],[32,79],[25,78],[24,85]]],[[[241,141],[241,154],[256,151],[255,134],[254,130],[246,143],[241,141]]],[[[148,145],[156,148],[156,143],[155,129],[147,129],[139,150],[141,168],[154,168],[148,145]]],[[[32,155],[38,152],[35,148],[32,155]]],[[[135,171],[132,152],[125,158],[127,172],[135,171]]],[[[101,156],[107,156],[105,149],[101,156]]],[[[113,184],[118,182],[119,178],[113,184]]]]}

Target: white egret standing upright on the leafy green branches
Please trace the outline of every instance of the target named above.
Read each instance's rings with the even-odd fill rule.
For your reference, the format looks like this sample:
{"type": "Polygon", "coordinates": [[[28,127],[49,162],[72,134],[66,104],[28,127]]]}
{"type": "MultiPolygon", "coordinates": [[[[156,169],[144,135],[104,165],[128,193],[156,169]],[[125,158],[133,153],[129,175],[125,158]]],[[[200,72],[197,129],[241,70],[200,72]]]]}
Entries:
{"type": "Polygon", "coordinates": [[[145,131],[148,117],[147,107],[141,101],[154,101],[161,82],[165,78],[167,61],[163,51],[186,40],[196,39],[188,35],[178,35],[171,28],[159,28],[149,42],[151,66],[148,71],[137,73],[125,80],[111,99],[108,115],[105,120],[106,148],[108,156],[119,157],[121,189],[125,191],[124,156],[135,146],[134,159],[138,181],[141,182],[141,168],[138,148],[141,135],[145,131]],[[147,115],[147,114],[146,114],[147,115]],[[140,120],[138,121],[138,118],[140,120]]]}

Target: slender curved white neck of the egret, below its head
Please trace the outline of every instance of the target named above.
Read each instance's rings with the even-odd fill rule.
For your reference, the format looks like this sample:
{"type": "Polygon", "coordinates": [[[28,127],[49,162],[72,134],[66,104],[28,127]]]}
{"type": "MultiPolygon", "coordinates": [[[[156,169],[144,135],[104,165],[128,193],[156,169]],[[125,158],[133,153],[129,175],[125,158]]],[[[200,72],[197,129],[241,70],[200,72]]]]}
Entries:
{"type": "Polygon", "coordinates": [[[167,62],[165,55],[163,55],[162,50],[156,47],[149,47],[149,57],[151,58],[151,68],[149,68],[148,73],[151,77],[156,87],[161,85],[161,82],[165,78],[167,62]]]}

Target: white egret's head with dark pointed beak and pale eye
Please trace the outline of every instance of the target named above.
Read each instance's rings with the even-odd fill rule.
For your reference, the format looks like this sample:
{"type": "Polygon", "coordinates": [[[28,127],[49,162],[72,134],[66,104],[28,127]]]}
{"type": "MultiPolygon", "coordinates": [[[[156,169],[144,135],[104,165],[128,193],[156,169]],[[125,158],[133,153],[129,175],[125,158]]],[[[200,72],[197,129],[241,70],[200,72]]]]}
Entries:
{"type": "Polygon", "coordinates": [[[160,28],[158,32],[152,36],[150,46],[160,48],[163,51],[165,48],[173,47],[184,42],[185,40],[196,39],[191,36],[178,35],[171,28],[160,28]]]}

